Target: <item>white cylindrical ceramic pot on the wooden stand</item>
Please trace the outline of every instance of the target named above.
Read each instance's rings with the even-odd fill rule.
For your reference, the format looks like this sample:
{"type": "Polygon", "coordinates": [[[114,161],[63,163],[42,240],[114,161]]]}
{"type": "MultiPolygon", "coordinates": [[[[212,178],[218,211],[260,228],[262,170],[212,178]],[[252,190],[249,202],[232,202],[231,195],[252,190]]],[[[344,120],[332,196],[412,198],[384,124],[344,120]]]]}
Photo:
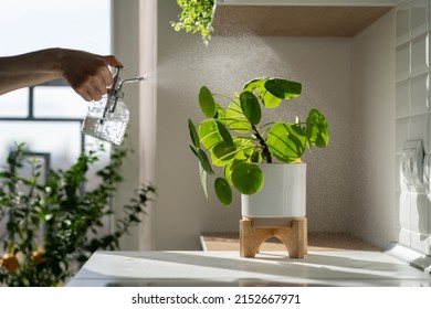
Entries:
{"type": "Polygon", "coordinates": [[[248,217],[304,217],[306,163],[262,163],[264,184],[255,194],[241,194],[241,213],[248,217]]]}

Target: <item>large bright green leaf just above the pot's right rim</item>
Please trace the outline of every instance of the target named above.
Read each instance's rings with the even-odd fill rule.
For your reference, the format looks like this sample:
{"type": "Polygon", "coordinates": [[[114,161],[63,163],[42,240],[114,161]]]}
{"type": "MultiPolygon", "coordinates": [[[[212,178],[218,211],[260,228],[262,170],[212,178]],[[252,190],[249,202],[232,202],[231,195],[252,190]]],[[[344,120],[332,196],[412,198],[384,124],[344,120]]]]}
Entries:
{"type": "Polygon", "coordinates": [[[299,125],[277,122],[270,129],[266,143],[280,161],[290,163],[304,154],[307,138],[299,125]]]}

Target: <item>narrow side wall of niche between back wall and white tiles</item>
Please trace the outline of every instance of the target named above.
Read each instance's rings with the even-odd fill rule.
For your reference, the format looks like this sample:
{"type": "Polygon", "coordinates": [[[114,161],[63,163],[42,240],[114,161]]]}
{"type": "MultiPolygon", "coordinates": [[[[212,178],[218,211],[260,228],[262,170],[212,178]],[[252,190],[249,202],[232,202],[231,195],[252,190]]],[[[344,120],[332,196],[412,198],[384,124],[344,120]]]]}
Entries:
{"type": "Polygon", "coordinates": [[[385,247],[395,241],[395,13],[351,42],[351,232],[385,247]]]}

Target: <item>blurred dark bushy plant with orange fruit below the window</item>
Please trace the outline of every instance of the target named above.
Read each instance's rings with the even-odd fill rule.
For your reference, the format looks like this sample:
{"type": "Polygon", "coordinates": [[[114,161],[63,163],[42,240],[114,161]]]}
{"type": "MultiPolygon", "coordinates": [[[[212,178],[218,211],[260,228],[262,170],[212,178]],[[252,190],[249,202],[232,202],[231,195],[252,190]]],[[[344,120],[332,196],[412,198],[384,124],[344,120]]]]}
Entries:
{"type": "Polygon", "coordinates": [[[155,188],[143,184],[124,205],[115,231],[99,235],[103,220],[111,217],[109,199],[123,180],[119,168],[128,153],[116,148],[109,162],[96,171],[99,184],[82,190],[88,169],[104,152],[103,147],[82,153],[67,170],[51,170],[42,181],[41,166],[17,145],[0,171],[0,286],[59,286],[96,249],[117,249],[119,239],[140,222],[155,188]],[[31,175],[20,175],[30,160],[31,175]]]}

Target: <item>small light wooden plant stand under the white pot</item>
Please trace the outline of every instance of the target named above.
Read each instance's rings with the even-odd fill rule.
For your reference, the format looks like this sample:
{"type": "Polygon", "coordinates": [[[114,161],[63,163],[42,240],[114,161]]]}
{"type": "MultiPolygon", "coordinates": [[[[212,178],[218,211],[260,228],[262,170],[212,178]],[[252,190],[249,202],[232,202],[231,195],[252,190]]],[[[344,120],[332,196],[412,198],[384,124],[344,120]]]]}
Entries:
{"type": "Polygon", "coordinates": [[[307,219],[240,220],[240,255],[254,257],[260,246],[271,237],[278,238],[291,258],[304,258],[307,253],[307,219]]]}

